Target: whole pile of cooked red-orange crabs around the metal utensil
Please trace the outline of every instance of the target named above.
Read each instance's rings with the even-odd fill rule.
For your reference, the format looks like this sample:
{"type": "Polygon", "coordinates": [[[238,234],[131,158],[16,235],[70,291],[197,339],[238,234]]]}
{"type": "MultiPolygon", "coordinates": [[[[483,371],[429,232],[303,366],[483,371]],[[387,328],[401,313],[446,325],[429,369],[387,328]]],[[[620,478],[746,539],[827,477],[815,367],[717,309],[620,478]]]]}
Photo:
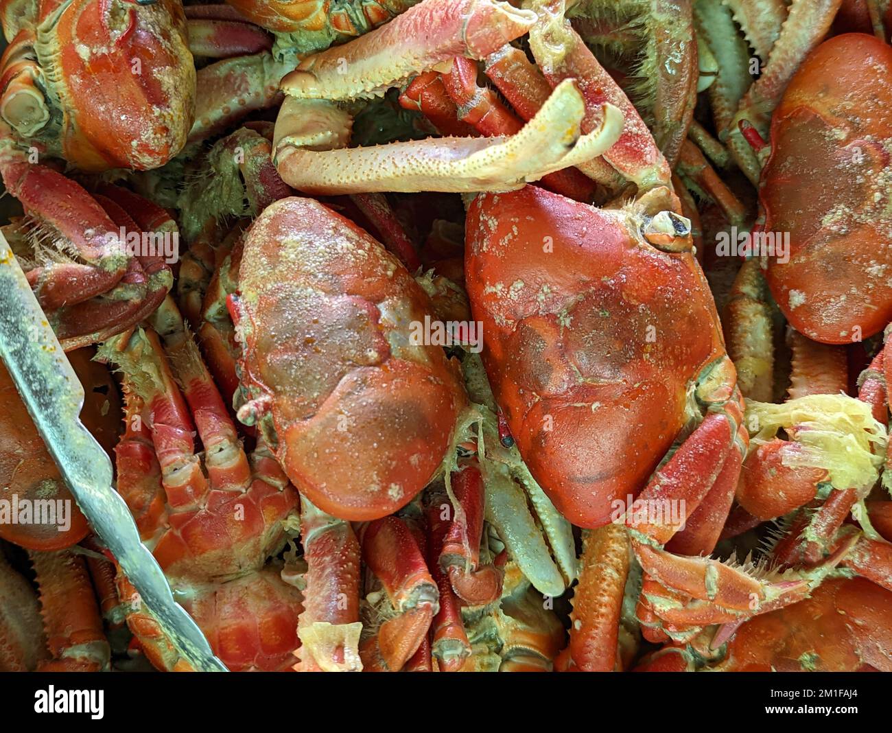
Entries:
{"type": "MultiPolygon", "coordinates": [[[[886,5],[2,0],[3,233],[219,659],[892,671],[886,5]]],[[[0,669],[190,669],[0,376],[0,669]]]]}

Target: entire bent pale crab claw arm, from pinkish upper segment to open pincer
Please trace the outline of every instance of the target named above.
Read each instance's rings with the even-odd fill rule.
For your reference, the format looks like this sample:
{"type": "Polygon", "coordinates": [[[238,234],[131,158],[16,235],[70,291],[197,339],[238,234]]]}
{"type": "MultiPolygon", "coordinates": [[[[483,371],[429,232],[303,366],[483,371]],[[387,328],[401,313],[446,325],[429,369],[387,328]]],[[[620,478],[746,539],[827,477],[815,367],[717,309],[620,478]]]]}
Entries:
{"type": "Polygon", "coordinates": [[[351,44],[310,56],[282,82],[288,98],[276,125],[279,173],[310,194],[509,190],[600,155],[614,144],[622,114],[604,104],[586,115],[569,80],[556,83],[541,111],[510,138],[333,150],[348,144],[352,120],[327,100],[383,94],[459,55],[482,60],[535,21],[532,12],[493,0],[427,0],[351,44]],[[586,135],[579,128],[583,117],[586,135]]]}

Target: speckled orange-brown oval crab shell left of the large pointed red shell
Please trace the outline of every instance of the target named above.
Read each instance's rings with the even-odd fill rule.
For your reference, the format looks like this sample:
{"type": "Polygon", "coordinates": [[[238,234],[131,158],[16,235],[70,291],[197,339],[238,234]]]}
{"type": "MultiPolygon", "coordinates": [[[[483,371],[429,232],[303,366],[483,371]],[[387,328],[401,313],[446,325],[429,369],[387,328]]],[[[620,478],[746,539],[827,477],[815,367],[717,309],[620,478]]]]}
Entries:
{"type": "Polygon", "coordinates": [[[430,301],[397,259],[322,204],[283,199],[245,236],[230,302],[242,383],[268,400],[268,441],[301,493],[361,521],[425,487],[466,397],[440,346],[410,343],[430,301]]]}

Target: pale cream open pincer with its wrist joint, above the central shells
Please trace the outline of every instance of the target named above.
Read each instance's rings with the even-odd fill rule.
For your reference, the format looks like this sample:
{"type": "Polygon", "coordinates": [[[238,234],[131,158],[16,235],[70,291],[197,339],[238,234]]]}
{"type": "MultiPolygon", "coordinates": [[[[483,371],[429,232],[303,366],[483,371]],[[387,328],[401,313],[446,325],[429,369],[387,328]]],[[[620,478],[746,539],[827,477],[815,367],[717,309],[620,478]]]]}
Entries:
{"type": "Polygon", "coordinates": [[[275,161],[288,185],[309,194],[372,191],[448,193],[507,191],[606,152],[618,139],[623,114],[603,107],[599,128],[580,135],[585,113],[572,80],[559,85],[515,136],[441,137],[408,143],[317,152],[332,127],[346,137],[350,118],[333,103],[289,97],[276,122],[275,161]]]}

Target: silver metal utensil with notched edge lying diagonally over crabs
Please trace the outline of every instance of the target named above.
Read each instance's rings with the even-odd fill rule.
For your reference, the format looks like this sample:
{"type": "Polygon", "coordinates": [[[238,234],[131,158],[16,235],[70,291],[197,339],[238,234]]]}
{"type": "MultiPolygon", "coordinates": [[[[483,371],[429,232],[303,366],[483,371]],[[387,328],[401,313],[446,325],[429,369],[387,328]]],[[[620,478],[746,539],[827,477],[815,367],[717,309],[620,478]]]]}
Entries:
{"type": "Polygon", "coordinates": [[[178,652],[199,671],[227,671],[140,541],[111,486],[111,460],[80,422],[84,388],[0,232],[0,358],[95,534],[117,559],[178,652]]]}

